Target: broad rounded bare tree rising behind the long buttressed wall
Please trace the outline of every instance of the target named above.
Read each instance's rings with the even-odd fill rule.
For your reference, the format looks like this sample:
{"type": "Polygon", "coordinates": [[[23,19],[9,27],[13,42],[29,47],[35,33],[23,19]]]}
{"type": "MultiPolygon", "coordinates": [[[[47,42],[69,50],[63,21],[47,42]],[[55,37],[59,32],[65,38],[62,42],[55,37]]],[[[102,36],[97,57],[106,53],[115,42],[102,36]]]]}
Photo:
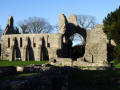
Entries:
{"type": "Polygon", "coordinates": [[[52,30],[52,26],[40,17],[29,17],[19,22],[19,26],[23,33],[49,33],[52,30]]]}

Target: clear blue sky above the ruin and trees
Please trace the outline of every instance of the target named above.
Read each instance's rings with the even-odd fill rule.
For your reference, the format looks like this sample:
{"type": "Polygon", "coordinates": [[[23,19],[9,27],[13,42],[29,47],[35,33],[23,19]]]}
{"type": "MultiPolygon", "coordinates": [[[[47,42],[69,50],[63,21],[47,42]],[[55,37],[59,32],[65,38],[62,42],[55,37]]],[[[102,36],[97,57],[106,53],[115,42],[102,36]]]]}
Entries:
{"type": "Polygon", "coordinates": [[[0,25],[4,29],[9,16],[14,17],[15,25],[32,16],[55,25],[60,13],[92,15],[102,24],[104,17],[119,5],[120,0],[0,0],[0,25]]]}

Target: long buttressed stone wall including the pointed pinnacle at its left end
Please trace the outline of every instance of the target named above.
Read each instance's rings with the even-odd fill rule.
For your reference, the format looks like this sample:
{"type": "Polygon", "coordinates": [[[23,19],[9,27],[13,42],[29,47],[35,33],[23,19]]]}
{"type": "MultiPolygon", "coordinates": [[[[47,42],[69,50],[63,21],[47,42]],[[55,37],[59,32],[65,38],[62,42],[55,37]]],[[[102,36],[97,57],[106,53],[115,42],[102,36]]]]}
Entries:
{"type": "Polygon", "coordinates": [[[57,57],[57,49],[61,49],[61,34],[19,34],[13,28],[13,18],[1,38],[2,60],[48,60],[57,57]],[[12,28],[11,28],[12,27],[12,28]]]}

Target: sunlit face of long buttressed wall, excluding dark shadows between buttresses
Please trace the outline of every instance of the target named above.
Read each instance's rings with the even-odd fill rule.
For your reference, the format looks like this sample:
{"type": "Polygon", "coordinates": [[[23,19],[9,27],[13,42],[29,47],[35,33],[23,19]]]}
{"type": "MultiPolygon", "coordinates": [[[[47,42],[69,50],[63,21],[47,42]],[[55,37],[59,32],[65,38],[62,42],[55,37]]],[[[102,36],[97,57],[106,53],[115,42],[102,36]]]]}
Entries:
{"type": "Polygon", "coordinates": [[[12,60],[13,49],[17,39],[17,46],[20,50],[21,59],[26,60],[26,50],[29,45],[34,54],[35,60],[41,60],[41,49],[44,48],[49,58],[57,57],[57,50],[61,49],[61,34],[13,34],[2,35],[2,60],[12,60]],[[29,38],[29,43],[28,43],[29,38]],[[20,40],[21,39],[21,40],[20,40]],[[9,45],[8,45],[9,44],[9,45]],[[20,45],[22,44],[22,45],[20,45]],[[46,49],[46,50],[45,50],[46,49]]]}

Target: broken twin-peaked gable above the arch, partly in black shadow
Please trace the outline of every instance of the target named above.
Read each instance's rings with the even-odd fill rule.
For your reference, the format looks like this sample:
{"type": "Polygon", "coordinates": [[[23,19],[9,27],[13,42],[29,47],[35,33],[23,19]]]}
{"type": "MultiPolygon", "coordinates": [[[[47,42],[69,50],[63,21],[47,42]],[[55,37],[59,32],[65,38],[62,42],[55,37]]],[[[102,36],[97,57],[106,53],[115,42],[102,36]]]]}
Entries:
{"type": "Polygon", "coordinates": [[[66,41],[76,33],[80,34],[86,40],[86,30],[79,27],[74,14],[68,18],[64,14],[59,15],[59,33],[63,34],[63,38],[65,37],[66,41]]]}

